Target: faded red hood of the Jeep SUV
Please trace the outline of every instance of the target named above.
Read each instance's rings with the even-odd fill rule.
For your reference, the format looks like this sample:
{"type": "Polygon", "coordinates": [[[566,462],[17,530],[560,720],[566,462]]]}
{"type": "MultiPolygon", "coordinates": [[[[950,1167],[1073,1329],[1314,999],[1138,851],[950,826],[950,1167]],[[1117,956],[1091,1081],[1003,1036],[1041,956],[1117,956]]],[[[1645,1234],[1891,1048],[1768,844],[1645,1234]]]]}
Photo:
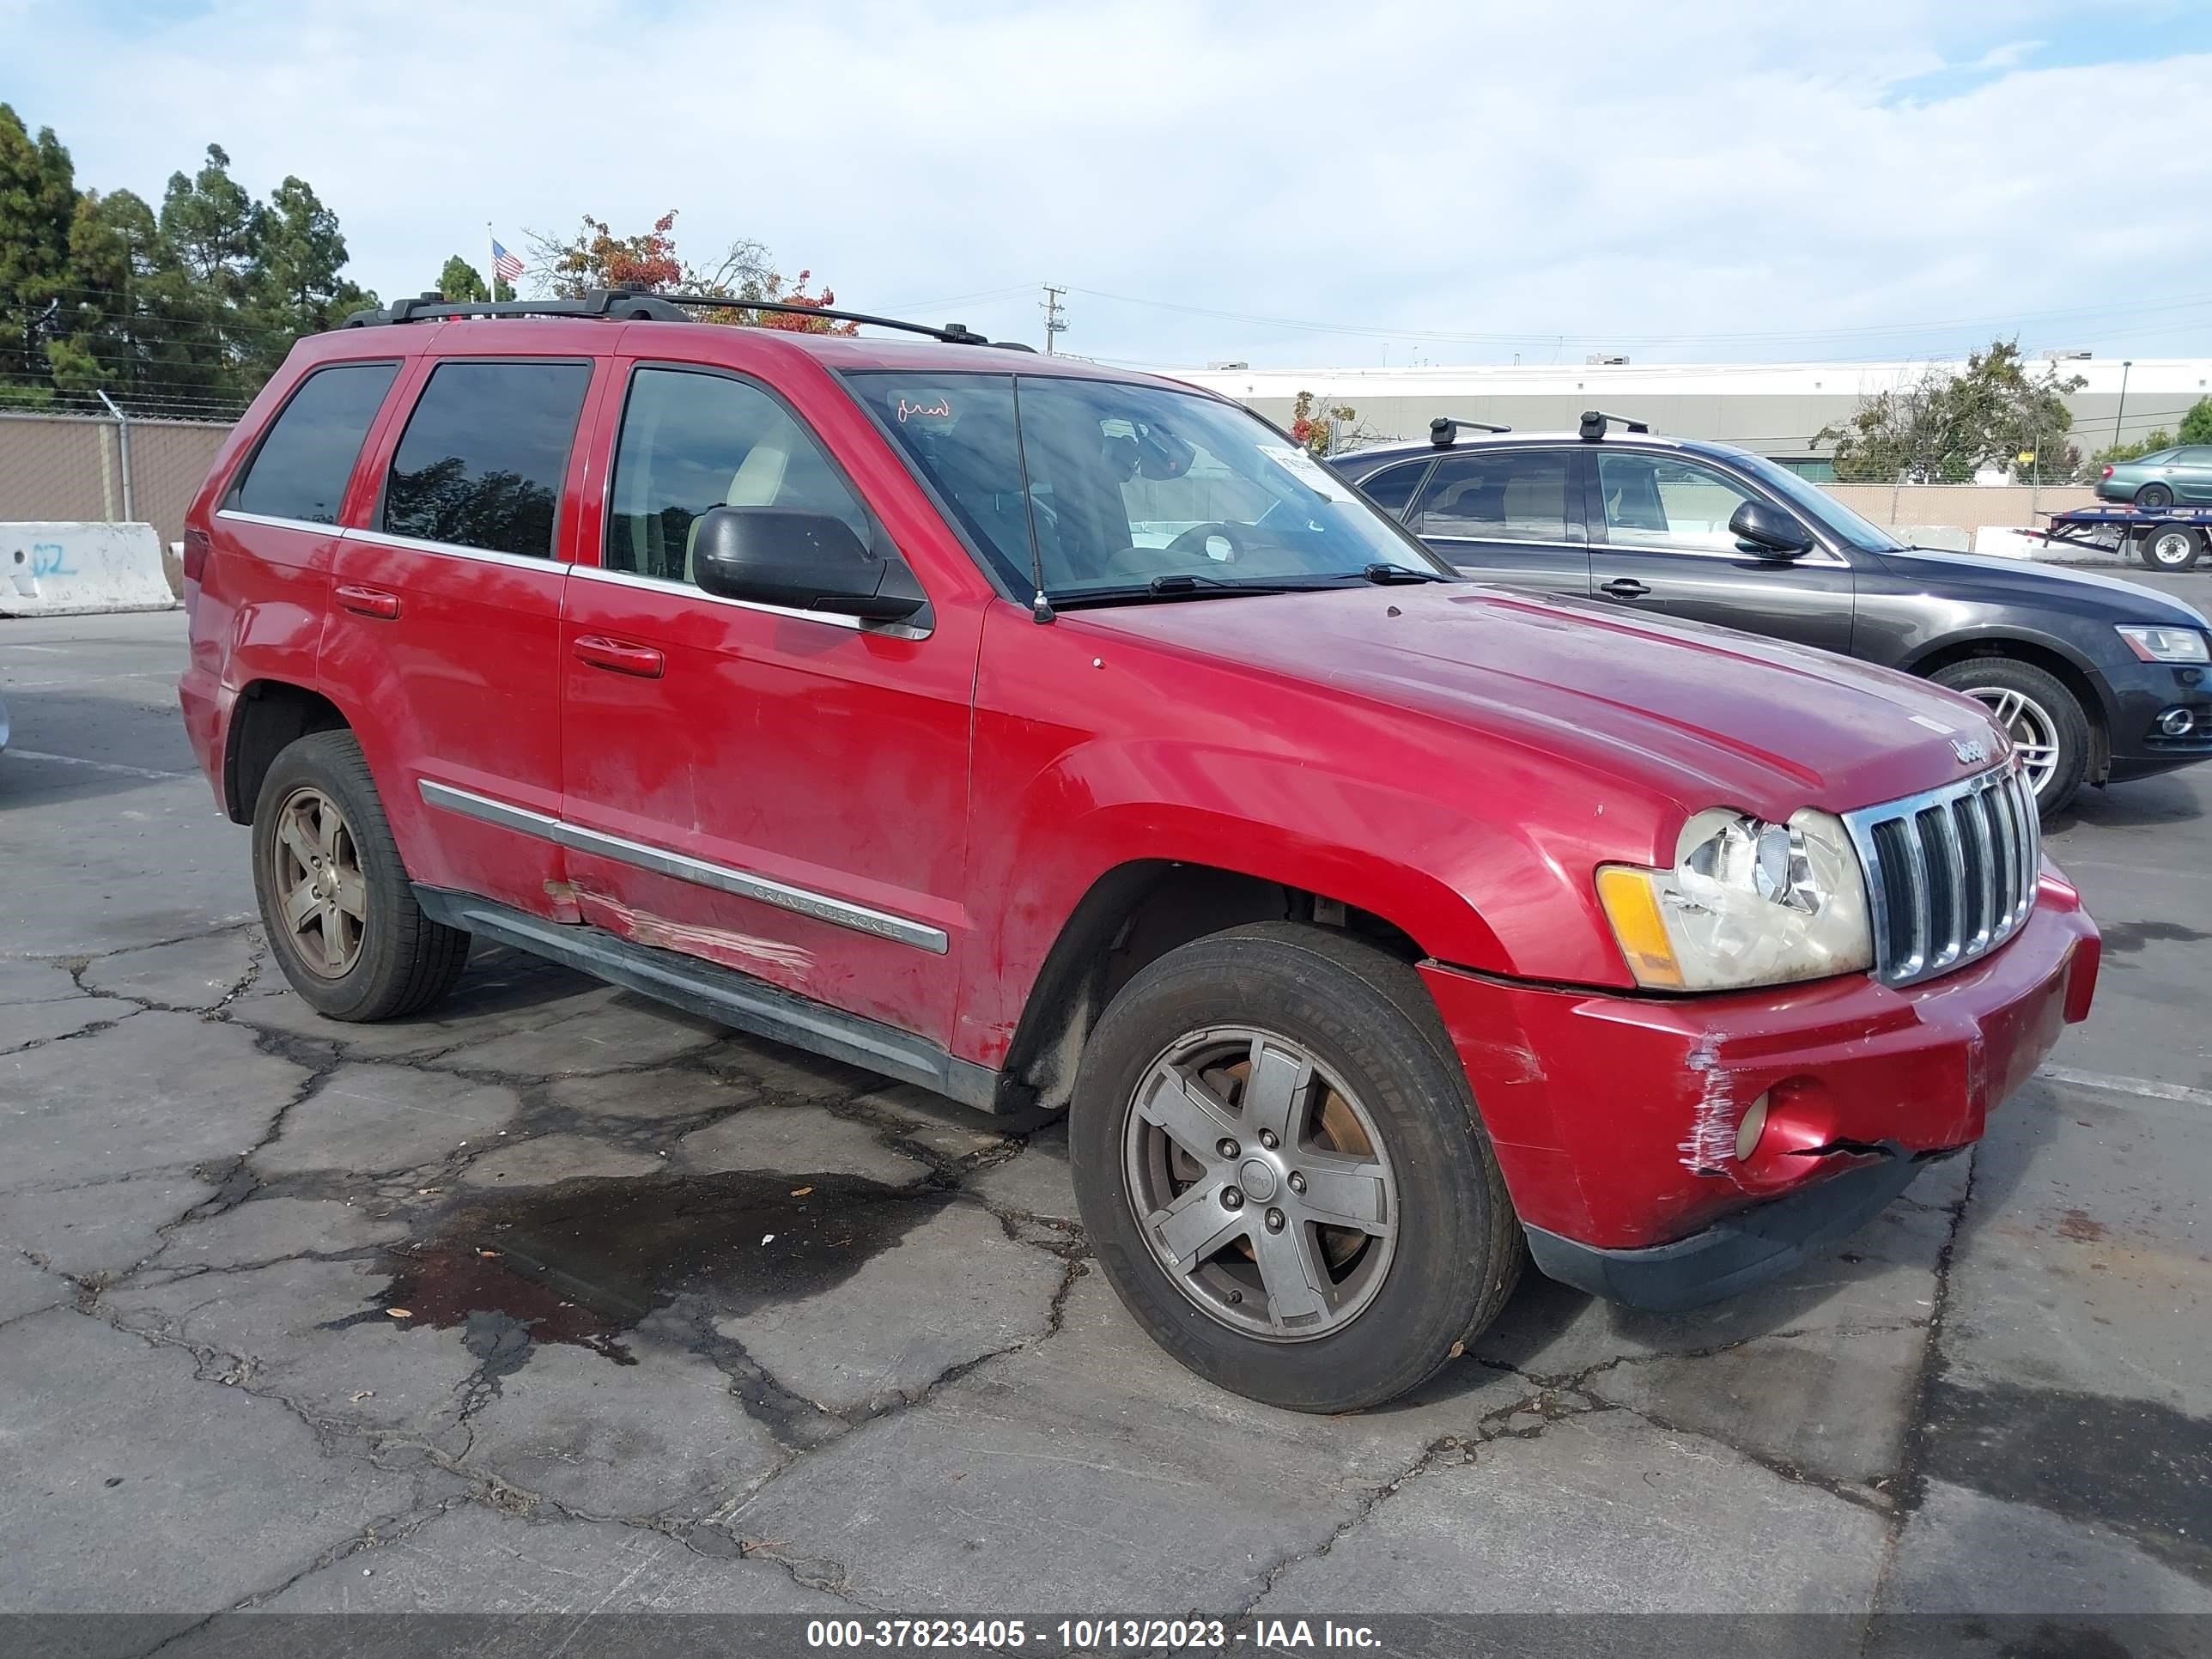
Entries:
{"type": "Polygon", "coordinates": [[[1416,710],[1644,783],[1686,812],[1847,812],[1971,776],[2008,748],[1980,703],[1909,675],[1478,584],[1139,604],[1068,622],[1416,710]],[[1953,741],[1986,759],[1962,759],[1953,741]]]}

